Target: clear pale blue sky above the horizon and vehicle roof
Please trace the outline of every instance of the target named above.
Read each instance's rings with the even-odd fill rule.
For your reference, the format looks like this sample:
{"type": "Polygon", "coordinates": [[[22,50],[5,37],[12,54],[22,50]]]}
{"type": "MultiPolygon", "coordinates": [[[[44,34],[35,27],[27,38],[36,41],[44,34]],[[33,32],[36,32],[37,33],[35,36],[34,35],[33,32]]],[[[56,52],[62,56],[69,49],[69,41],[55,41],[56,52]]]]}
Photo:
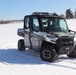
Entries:
{"type": "Polygon", "coordinates": [[[32,12],[65,14],[68,8],[74,12],[76,0],[0,0],[0,20],[19,20],[32,12]]]}

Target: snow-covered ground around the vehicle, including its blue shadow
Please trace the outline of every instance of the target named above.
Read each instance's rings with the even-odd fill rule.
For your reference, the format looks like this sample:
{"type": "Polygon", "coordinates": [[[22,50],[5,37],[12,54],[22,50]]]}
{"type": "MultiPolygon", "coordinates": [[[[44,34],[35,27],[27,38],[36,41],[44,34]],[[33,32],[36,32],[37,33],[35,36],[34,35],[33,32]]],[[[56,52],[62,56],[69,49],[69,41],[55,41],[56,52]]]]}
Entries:
{"type": "MultiPolygon", "coordinates": [[[[70,29],[76,30],[76,20],[67,20],[70,29]],[[74,26],[73,26],[74,25],[74,26]]],[[[17,29],[23,23],[0,25],[0,75],[76,75],[76,59],[60,56],[55,62],[44,62],[39,53],[27,49],[20,52],[17,29]]]]}

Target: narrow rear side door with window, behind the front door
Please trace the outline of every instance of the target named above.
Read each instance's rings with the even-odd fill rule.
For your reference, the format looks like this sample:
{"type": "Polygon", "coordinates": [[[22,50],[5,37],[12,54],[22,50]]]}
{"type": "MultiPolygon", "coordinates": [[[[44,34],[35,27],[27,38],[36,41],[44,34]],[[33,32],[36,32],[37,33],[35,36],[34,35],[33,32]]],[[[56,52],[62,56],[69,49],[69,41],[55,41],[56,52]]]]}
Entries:
{"type": "Polygon", "coordinates": [[[25,31],[25,36],[24,36],[24,42],[25,42],[25,46],[27,46],[28,48],[30,48],[30,39],[29,39],[29,33],[30,33],[30,17],[25,17],[24,18],[24,31],[25,31]]]}

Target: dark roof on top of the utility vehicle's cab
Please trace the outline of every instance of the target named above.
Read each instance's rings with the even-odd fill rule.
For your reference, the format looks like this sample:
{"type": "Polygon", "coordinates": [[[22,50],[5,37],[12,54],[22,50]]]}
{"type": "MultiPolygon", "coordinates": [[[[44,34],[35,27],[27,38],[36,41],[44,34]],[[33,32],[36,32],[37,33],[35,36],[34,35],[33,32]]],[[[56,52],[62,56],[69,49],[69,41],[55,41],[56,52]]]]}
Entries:
{"type": "Polygon", "coordinates": [[[56,13],[48,13],[48,12],[33,12],[32,15],[29,15],[29,16],[63,18],[56,13]]]}

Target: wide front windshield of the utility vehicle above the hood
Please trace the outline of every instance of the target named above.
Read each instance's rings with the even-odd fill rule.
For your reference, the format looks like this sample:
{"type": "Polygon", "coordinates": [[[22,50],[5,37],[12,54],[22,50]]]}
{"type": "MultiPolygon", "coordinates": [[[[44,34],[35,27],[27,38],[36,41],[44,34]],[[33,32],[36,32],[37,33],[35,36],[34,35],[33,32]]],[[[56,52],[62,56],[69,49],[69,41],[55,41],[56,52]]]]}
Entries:
{"type": "Polygon", "coordinates": [[[45,32],[67,32],[68,27],[64,19],[60,18],[41,18],[43,30],[45,32]]]}

